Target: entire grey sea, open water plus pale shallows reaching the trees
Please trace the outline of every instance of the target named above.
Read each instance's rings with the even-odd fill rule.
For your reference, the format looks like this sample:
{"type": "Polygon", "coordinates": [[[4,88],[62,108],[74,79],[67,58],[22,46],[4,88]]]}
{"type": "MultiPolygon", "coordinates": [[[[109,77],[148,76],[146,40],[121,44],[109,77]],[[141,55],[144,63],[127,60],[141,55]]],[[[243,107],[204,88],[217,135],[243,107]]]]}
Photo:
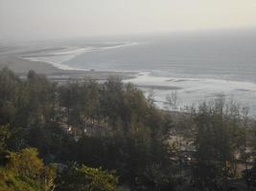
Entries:
{"type": "Polygon", "coordinates": [[[179,107],[221,95],[248,106],[256,116],[253,32],[148,37],[115,44],[103,41],[97,46],[80,44],[77,50],[27,58],[56,62],[62,69],[137,72],[125,82],[138,85],[146,95],[153,93],[160,108],[165,107],[166,96],[175,91],[179,107]]]}

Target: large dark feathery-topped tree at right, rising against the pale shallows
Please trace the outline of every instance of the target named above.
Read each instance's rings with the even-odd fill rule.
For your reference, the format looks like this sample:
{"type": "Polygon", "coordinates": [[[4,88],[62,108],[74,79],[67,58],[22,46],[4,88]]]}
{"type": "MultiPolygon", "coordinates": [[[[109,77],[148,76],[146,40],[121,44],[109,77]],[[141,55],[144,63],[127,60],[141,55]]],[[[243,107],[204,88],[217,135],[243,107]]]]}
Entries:
{"type": "Polygon", "coordinates": [[[211,187],[236,177],[236,156],[245,144],[243,116],[235,104],[224,103],[222,98],[203,103],[195,118],[194,178],[199,187],[211,187]]]}

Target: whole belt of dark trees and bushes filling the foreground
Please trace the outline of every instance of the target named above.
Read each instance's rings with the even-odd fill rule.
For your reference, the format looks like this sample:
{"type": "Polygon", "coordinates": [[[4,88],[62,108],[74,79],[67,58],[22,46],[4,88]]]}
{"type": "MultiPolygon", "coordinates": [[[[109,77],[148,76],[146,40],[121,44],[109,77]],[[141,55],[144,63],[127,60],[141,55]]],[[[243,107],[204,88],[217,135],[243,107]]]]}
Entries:
{"type": "Polygon", "coordinates": [[[246,190],[255,121],[223,97],[160,111],[119,78],[63,85],[0,71],[0,190],[246,190]]]}

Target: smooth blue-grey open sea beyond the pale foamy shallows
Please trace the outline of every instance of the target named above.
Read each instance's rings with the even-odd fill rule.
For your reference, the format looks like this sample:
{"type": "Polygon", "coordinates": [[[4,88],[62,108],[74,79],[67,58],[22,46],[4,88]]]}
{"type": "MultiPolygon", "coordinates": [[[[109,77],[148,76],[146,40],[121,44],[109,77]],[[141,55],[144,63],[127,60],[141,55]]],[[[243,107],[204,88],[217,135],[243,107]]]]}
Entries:
{"type": "Polygon", "coordinates": [[[256,82],[256,35],[164,37],[96,50],[64,64],[103,71],[150,71],[155,75],[256,82]]]}

